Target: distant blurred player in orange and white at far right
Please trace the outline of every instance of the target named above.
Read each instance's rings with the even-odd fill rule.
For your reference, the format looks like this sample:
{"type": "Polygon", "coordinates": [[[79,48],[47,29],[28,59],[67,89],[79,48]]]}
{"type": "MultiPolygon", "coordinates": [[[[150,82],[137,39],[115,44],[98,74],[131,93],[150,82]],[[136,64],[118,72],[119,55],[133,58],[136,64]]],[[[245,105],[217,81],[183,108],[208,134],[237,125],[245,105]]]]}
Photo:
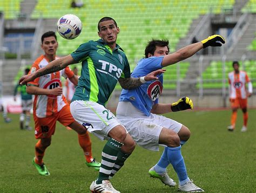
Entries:
{"type": "Polygon", "coordinates": [[[228,83],[230,84],[230,102],[232,108],[231,125],[227,127],[229,131],[235,129],[235,121],[237,121],[237,109],[241,108],[243,113],[244,125],[242,125],[241,132],[247,130],[247,97],[252,95],[252,82],[244,71],[239,70],[238,61],[233,61],[234,71],[228,73],[228,83]],[[246,89],[246,85],[248,89],[246,89]]]}

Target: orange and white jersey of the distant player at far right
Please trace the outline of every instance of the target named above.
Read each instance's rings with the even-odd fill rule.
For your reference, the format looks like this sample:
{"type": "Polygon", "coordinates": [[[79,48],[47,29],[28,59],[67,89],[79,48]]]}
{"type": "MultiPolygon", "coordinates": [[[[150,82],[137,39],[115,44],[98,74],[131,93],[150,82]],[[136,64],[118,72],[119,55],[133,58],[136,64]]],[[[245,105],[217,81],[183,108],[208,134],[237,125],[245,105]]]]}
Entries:
{"type": "Polygon", "coordinates": [[[246,72],[239,71],[236,74],[234,71],[228,73],[228,82],[230,83],[230,99],[240,98],[246,99],[246,83],[250,82],[250,79],[246,72]]]}

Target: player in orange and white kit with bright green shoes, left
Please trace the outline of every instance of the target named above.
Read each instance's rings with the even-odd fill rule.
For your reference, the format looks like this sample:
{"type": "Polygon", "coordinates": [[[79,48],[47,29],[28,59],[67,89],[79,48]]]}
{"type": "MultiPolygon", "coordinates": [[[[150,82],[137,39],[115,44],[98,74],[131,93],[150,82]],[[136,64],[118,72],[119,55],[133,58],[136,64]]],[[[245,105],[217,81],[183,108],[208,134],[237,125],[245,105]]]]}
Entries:
{"type": "MultiPolygon", "coordinates": [[[[55,32],[49,31],[43,34],[41,55],[33,63],[29,74],[48,65],[50,61],[57,59],[56,51],[58,48],[57,37],[55,32]]],[[[32,163],[41,175],[50,175],[48,169],[43,163],[44,152],[51,144],[51,135],[55,133],[56,122],[59,121],[64,126],[69,126],[78,133],[78,141],[84,151],[86,165],[99,169],[100,163],[97,162],[91,153],[91,140],[86,128],[75,119],[70,113],[70,106],[62,94],[62,83],[60,77],[69,78],[77,85],[78,77],[70,70],[69,67],[61,71],[46,74],[31,82],[28,82],[26,91],[35,95],[33,102],[33,118],[35,120],[35,136],[39,141],[36,143],[36,157],[32,163]]]]}

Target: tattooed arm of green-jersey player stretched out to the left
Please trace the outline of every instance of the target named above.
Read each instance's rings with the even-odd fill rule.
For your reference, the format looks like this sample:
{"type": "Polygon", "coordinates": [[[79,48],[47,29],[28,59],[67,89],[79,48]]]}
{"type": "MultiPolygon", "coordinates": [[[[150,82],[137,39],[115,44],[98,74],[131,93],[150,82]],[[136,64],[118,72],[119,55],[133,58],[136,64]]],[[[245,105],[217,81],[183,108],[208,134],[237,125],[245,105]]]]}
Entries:
{"type": "Polygon", "coordinates": [[[28,75],[24,75],[21,79],[19,79],[19,84],[25,85],[28,82],[35,80],[38,77],[42,77],[42,75],[60,71],[63,68],[65,68],[66,66],[68,66],[70,64],[75,64],[75,63],[76,63],[76,61],[73,59],[73,57],[70,54],[63,58],[53,60],[48,65],[37,70],[36,72],[28,74],[28,75]]]}

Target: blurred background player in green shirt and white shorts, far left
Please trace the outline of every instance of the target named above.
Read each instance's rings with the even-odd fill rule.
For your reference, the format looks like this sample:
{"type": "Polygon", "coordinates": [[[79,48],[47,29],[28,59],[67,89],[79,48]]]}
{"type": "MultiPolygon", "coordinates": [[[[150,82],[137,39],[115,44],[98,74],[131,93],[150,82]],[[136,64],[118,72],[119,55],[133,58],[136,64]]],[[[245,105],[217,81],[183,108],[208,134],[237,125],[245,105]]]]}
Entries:
{"type": "MultiPolygon", "coordinates": [[[[24,74],[25,75],[28,74],[29,71],[30,69],[26,68],[24,70],[24,74]]],[[[22,113],[19,115],[19,128],[31,130],[29,123],[30,123],[30,110],[33,104],[32,95],[26,92],[26,85],[17,84],[14,89],[14,101],[16,101],[16,95],[19,88],[21,92],[21,101],[22,101],[22,113]],[[24,128],[24,121],[25,121],[25,128],[24,128]]]]}

